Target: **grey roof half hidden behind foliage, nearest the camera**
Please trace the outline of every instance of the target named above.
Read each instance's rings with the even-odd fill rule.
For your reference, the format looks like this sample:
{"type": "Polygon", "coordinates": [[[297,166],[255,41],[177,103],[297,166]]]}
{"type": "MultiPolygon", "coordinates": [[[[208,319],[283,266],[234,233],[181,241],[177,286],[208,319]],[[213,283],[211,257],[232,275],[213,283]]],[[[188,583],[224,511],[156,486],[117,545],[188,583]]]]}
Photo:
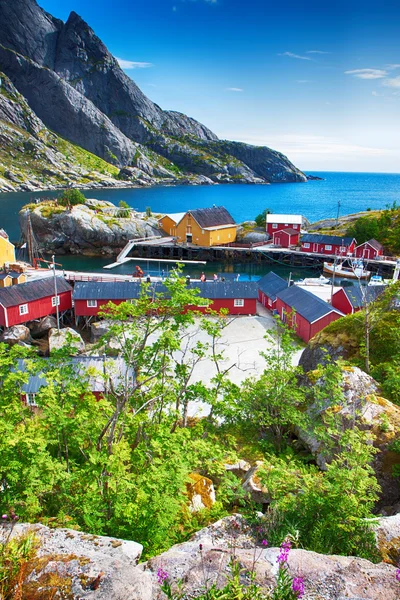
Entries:
{"type": "MultiPolygon", "coordinates": [[[[41,360],[47,361],[49,359],[41,360]]],[[[32,363],[33,361],[34,359],[31,359],[28,363],[32,363]]],[[[115,388],[124,382],[124,377],[127,372],[126,364],[121,357],[72,356],[66,359],[66,365],[74,366],[77,374],[81,374],[82,376],[90,369],[89,387],[92,392],[104,392],[106,390],[107,382],[104,380],[104,373],[110,378],[113,387],[115,388]]],[[[15,370],[22,373],[28,371],[27,361],[18,359],[15,370]]],[[[132,371],[130,371],[130,376],[133,377],[132,371]]],[[[45,385],[47,385],[45,373],[33,373],[29,375],[28,382],[22,384],[21,391],[24,394],[37,394],[40,388],[45,385]]]]}

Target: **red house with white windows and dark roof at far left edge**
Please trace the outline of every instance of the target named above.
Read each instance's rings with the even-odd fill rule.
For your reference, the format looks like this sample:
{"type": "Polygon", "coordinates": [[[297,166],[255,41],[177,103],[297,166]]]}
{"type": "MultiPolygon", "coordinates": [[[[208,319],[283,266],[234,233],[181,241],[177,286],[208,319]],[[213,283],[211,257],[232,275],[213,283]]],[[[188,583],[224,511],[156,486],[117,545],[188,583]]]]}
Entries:
{"type": "Polygon", "coordinates": [[[72,308],[72,287],[62,277],[46,277],[0,289],[0,326],[12,327],[72,308]]]}

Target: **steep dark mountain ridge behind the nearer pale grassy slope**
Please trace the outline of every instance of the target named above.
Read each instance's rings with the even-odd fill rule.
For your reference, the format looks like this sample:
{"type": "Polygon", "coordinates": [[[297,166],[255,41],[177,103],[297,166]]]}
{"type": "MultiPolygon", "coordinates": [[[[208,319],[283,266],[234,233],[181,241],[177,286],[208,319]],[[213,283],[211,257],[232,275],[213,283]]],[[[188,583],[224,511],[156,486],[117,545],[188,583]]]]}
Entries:
{"type": "Polygon", "coordinates": [[[1,68],[43,128],[123,169],[124,181],[306,181],[279,152],[162,110],[75,12],[64,23],[35,0],[0,0],[0,41],[1,68]]]}

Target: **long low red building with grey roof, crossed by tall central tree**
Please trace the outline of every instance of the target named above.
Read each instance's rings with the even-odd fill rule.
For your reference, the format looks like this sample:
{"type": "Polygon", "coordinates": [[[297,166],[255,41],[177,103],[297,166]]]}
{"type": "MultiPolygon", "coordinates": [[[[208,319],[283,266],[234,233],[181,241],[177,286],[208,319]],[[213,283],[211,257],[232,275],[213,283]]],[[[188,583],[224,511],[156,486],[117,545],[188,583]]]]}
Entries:
{"type": "MultiPolygon", "coordinates": [[[[199,290],[199,298],[211,300],[208,308],[228,310],[231,315],[255,315],[257,305],[257,282],[255,281],[206,281],[189,282],[188,286],[199,290]]],[[[96,316],[108,303],[121,304],[136,300],[140,296],[141,283],[123,282],[78,282],[74,289],[76,317],[96,316]]],[[[152,283],[149,294],[162,293],[168,297],[167,288],[161,283],[152,283]]],[[[205,312],[204,306],[188,306],[187,309],[205,312]]]]}

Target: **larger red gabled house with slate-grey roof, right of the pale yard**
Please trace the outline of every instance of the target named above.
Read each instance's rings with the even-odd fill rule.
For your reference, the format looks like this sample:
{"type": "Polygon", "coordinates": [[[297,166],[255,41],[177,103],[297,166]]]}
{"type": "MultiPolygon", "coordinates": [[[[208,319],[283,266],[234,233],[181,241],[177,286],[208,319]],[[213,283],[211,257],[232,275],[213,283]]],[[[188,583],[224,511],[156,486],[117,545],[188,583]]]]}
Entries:
{"type": "Polygon", "coordinates": [[[330,304],[297,285],[277,293],[276,309],[282,321],[305,342],[332,321],[343,317],[330,304]]]}

